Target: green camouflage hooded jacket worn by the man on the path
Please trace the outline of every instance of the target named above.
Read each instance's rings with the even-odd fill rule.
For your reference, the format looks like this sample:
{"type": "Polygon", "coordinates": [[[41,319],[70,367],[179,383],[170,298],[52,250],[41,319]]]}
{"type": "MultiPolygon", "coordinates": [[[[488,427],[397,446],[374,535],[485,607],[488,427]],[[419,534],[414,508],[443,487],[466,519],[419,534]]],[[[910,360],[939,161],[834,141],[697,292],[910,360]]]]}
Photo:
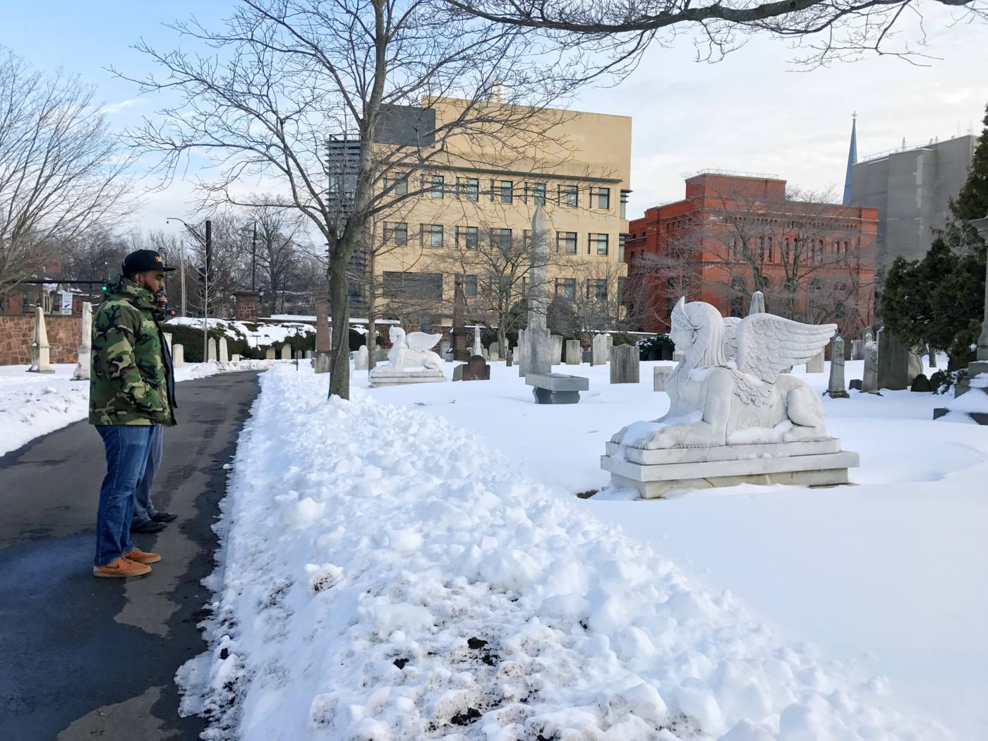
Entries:
{"type": "Polygon", "coordinates": [[[93,316],[89,381],[91,425],[175,424],[171,363],[155,312],[157,299],[117,276],[93,316]]]}

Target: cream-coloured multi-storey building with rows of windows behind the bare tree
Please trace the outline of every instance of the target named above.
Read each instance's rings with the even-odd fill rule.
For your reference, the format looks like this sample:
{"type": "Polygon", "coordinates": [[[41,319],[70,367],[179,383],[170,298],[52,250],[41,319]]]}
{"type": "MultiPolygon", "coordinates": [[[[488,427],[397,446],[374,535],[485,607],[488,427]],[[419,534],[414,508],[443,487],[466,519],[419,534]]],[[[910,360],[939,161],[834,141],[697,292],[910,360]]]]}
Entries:
{"type": "MultiPolygon", "coordinates": [[[[461,110],[462,102],[454,100],[430,109],[440,130],[461,110]]],[[[540,111],[531,120],[544,125],[529,127],[522,118],[517,128],[489,136],[452,136],[429,169],[399,185],[421,193],[374,223],[374,239],[384,249],[373,272],[385,302],[411,285],[435,299],[437,316],[448,317],[455,255],[484,240],[527,244],[536,203],[545,206],[549,220],[549,290],[569,298],[606,291],[615,298],[618,279],[626,276],[631,119],[540,111]]],[[[475,285],[475,277],[466,275],[468,298],[475,285]]]]}

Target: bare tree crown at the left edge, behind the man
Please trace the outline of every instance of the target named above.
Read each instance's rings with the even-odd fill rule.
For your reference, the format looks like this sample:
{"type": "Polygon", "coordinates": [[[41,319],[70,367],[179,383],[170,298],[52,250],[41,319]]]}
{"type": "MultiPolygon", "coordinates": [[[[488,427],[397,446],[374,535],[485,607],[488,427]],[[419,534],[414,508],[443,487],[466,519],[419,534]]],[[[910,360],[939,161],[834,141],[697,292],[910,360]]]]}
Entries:
{"type": "Polygon", "coordinates": [[[0,288],[121,214],[121,151],[91,88],[0,47],[0,288]]]}

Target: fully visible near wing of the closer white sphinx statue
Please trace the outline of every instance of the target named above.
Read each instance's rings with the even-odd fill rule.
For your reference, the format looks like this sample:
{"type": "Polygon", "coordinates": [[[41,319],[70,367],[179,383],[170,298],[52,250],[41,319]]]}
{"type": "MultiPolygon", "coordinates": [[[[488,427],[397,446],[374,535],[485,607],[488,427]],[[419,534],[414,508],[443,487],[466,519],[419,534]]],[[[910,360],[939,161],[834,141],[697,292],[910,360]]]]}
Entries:
{"type": "Polygon", "coordinates": [[[737,367],[772,383],[791,366],[827,347],[836,324],[803,324],[775,314],[751,314],[737,325],[737,367]]]}

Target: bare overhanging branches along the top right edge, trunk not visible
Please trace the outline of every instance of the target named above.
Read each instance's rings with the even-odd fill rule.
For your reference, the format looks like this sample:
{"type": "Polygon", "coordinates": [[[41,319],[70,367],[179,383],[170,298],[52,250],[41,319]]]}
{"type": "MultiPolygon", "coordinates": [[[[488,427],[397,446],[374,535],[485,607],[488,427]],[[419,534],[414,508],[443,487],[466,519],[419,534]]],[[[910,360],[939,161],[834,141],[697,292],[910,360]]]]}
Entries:
{"type": "MultiPolygon", "coordinates": [[[[794,61],[810,67],[867,53],[922,63],[926,54],[919,0],[447,0],[454,8],[512,28],[536,29],[566,50],[599,55],[598,72],[632,69],[652,43],[667,46],[696,32],[697,59],[716,61],[755,34],[791,41],[794,61]],[[917,22],[918,43],[893,45],[904,25],[917,22]]],[[[983,0],[936,0],[957,9],[954,23],[988,17],[983,0]]]]}

